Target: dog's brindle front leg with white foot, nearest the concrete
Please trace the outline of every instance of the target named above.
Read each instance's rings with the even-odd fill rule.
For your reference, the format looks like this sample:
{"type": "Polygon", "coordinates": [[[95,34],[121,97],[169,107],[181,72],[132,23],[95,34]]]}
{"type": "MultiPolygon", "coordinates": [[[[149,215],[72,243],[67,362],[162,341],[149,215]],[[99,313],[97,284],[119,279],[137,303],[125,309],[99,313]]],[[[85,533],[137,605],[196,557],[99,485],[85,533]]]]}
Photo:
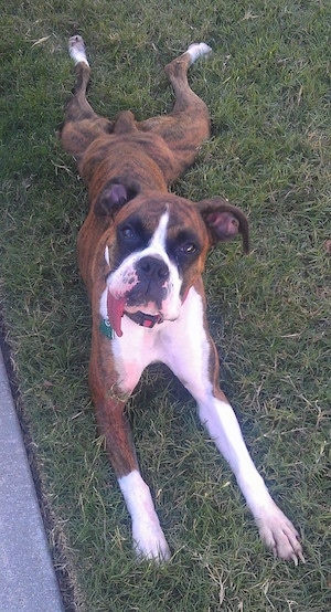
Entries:
{"type": "Polygon", "coordinates": [[[170,549],[149,487],[140,475],[130,426],[124,413],[126,400],[140,378],[141,365],[132,360],[129,371],[121,367],[119,377],[113,342],[117,340],[103,339],[98,331],[97,341],[93,341],[89,384],[98,428],[105,436],[107,454],[131,516],[137,556],[156,561],[168,560],[170,549]]]}

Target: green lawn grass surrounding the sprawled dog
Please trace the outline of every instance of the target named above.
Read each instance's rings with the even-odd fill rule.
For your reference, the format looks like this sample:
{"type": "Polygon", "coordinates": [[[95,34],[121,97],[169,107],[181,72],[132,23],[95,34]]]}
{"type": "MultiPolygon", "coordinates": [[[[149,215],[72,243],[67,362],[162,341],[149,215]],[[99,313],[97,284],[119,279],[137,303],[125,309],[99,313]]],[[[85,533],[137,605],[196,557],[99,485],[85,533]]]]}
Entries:
{"type": "Polygon", "coordinates": [[[330,609],[330,4],[63,0],[2,8],[2,328],[66,610],[325,612],[330,609]],[[89,307],[76,258],[87,210],[56,129],[73,85],[67,38],[93,65],[90,101],[140,118],[171,108],[162,66],[192,41],[212,138],[175,186],[249,214],[252,254],[211,253],[209,317],[222,386],[307,564],[263,548],[194,404],[163,368],[129,405],[141,469],[174,552],[137,563],[96,437],[86,369],[89,307]],[[111,101],[110,101],[111,98],[111,101]]]}

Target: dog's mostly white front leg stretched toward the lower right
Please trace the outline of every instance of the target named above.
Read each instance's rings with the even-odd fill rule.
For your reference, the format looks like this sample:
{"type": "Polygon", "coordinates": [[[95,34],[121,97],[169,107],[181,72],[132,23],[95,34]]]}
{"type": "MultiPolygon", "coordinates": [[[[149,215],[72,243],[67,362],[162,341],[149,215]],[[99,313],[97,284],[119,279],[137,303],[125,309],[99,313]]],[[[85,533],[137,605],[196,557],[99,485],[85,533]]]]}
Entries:
{"type": "Polygon", "coordinates": [[[167,338],[164,361],[195,398],[201,422],[233,469],[264,542],[281,559],[305,561],[298,534],[270,497],[236,415],[218,387],[218,359],[206,330],[202,294],[201,286],[200,293],[194,287],[190,289],[181,318],[167,338]]]}

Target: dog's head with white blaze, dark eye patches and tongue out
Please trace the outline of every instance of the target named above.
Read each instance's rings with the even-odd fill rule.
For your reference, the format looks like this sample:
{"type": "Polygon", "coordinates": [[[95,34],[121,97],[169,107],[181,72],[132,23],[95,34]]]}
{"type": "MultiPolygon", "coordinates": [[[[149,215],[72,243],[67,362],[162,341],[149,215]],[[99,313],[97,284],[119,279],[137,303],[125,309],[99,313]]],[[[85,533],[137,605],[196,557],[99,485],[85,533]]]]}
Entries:
{"type": "Polygon", "coordinates": [[[113,230],[105,234],[108,272],[102,314],[117,336],[125,313],[142,313],[151,321],[175,320],[203,271],[209,247],[238,232],[248,252],[247,219],[222,198],[194,204],[171,193],[151,192],[116,205],[113,230]]]}

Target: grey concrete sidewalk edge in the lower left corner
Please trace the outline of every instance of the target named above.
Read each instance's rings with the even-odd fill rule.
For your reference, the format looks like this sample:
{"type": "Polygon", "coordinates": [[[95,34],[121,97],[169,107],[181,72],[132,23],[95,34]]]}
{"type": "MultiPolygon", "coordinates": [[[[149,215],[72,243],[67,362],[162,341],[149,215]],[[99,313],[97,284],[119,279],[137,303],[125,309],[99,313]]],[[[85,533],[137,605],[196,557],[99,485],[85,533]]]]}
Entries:
{"type": "Polygon", "coordinates": [[[63,612],[0,350],[0,612],[63,612]]]}

